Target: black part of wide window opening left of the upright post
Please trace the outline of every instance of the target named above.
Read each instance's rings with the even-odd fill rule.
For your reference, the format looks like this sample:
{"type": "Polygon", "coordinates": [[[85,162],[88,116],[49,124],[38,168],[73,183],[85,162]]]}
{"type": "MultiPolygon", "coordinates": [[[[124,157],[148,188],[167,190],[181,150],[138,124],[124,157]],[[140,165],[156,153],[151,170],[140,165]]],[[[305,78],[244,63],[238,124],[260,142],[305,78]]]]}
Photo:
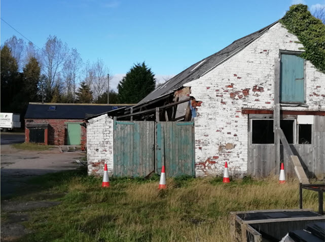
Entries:
{"type": "Polygon", "coordinates": [[[273,120],[252,120],[251,143],[274,143],[273,120]]]}

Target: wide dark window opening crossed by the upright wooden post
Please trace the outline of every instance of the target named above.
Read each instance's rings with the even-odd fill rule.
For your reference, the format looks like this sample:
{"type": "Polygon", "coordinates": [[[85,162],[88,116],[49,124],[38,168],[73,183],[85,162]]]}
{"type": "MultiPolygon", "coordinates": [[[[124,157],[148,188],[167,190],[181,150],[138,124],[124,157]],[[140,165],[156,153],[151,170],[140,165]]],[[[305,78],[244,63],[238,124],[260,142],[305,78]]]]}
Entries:
{"type": "MultiPolygon", "coordinates": [[[[288,143],[295,143],[296,129],[295,120],[282,119],[280,127],[288,143]]],[[[251,119],[251,143],[273,144],[273,119],[251,119]]]]}

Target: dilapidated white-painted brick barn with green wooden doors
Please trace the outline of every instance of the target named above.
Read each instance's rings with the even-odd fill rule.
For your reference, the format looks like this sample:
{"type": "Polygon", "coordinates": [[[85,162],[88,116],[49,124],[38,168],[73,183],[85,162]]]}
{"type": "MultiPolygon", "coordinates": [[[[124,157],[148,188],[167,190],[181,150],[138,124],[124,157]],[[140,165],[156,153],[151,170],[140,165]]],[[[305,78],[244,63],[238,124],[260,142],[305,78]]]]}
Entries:
{"type": "Polygon", "coordinates": [[[89,118],[88,173],[325,176],[325,74],[276,21],[193,64],[137,105],[89,118]],[[98,136],[100,135],[100,136],[98,136]],[[99,139],[95,139],[99,137],[99,139]],[[295,158],[295,160],[292,160],[295,158]],[[297,159],[296,159],[297,158],[297,159]],[[296,163],[295,163],[296,162],[296,163]]]}

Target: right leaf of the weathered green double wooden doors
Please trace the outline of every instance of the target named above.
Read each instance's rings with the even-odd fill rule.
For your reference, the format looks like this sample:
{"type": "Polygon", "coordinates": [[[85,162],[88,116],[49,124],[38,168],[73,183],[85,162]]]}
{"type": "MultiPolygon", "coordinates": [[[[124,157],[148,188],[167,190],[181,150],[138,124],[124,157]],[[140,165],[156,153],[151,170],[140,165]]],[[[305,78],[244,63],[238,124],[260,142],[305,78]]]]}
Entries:
{"type": "Polygon", "coordinates": [[[167,176],[195,176],[194,122],[158,122],[156,172],[165,165],[167,176]]]}

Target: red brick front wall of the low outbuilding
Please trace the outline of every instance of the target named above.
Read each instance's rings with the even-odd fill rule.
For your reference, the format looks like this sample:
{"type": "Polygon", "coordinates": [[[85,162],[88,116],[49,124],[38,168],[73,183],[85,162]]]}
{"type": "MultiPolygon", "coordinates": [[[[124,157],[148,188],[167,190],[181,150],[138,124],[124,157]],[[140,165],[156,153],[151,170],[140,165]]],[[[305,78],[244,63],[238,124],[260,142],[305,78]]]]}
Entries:
{"type": "MultiPolygon", "coordinates": [[[[33,123],[48,123],[48,144],[54,146],[63,146],[67,144],[67,124],[66,123],[75,123],[75,122],[83,122],[83,120],[77,119],[25,119],[25,123],[33,122],[33,123]]],[[[81,144],[86,145],[87,135],[86,128],[80,126],[81,128],[81,144]]],[[[27,140],[27,132],[28,129],[25,127],[25,142],[27,140]]]]}

